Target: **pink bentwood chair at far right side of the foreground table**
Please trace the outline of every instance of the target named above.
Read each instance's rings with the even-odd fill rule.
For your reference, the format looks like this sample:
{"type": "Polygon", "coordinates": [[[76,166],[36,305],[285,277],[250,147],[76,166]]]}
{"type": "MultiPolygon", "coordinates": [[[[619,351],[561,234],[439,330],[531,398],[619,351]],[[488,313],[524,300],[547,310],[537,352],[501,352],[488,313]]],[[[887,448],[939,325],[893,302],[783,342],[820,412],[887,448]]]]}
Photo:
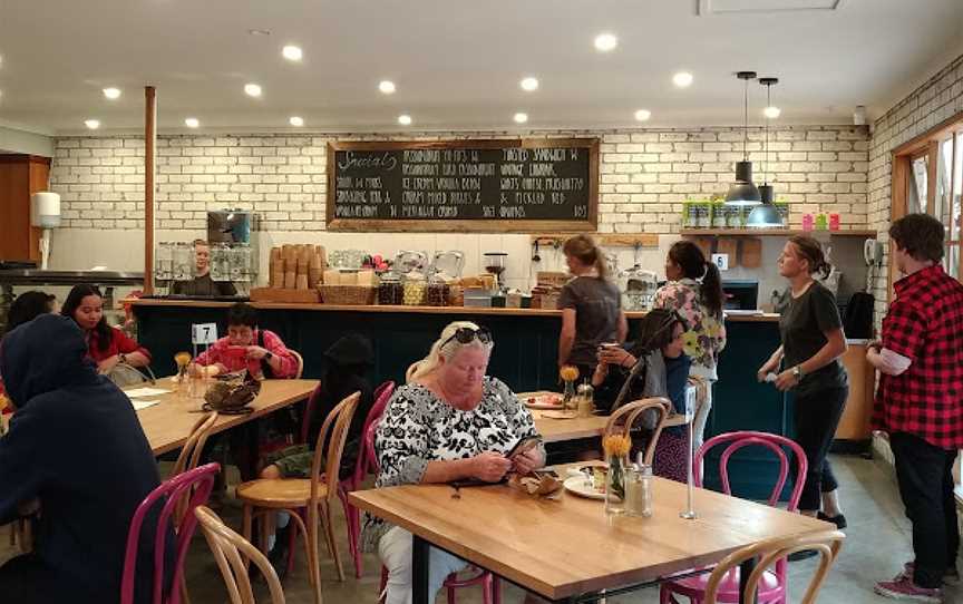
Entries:
{"type": "MultiPolygon", "coordinates": [[[[728,444],[719,459],[719,475],[722,479],[722,491],[726,495],[732,495],[729,486],[729,459],[732,454],[743,447],[758,446],[765,447],[772,451],[779,459],[779,479],[772,488],[768,504],[775,506],[779,500],[779,495],[782,493],[782,487],[786,486],[786,478],[789,475],[789,457],[782,449],[788,448],[796,456],[797,470],[796,481],[792,486],[792,493],[789,496],[787,506],[788,512],[797,512],[799,497],[802,495],[802,485],[806,480],[806,471],[808,461],[806,452],[795,441],[778,435],[755,431],[739,431],[719,435],[707,440],[696,458],[692,460],[692,478],[696,486],[702,486],[702,460],[706,454],[717,445],[728,444]]],[[[766,571],[759,581],[758,602],[759,604],[786,604],[787,603],[787,582],[786,582],[786,558],[781,558],[776,563],[775,572],[766,571]]],[[[709,575],[699,575],[694,577],[683,578],[679,581],[667,581],[662,584],[659,593],[660,604],[678,604],[675,595],[682,595],[689,598],[691,604],[702,604],[706,601],[706,587],[709,582],[709,575]]],[[[716,602],[737,603],[739,602],[739,567],[729,571],[721,579],[716,602]]]]}

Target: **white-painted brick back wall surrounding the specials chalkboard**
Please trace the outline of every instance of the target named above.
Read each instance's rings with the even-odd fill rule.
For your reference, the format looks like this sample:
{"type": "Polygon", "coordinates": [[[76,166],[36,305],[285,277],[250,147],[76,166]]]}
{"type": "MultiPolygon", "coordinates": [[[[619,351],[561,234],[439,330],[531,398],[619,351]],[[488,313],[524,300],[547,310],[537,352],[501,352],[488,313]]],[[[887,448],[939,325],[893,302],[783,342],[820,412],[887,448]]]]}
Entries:
{"type": "MultiPolygon", "coordinates": [[[[678,233],[687,198],[724,194],[742,158],[739,128],[538,131],[534,136],[602,139],[600,232],[678,233]]],[[[448,133],[406,138],[504,138],[505,133],[448,133]]],[[[206,210],[261,214],[265,231],[323,231],[329,140],[391,136],[239,135],[157,139],[157,227],[203,228],[206,210]]],[[[393,136],[397,138],[397,135],[393,136]]],[[[762,133],[747,147],[762,177],[762,133]]],[[[790,221],[836,212],[844,227],[867,225],[869,139],[865,128],[787,127],[770,133],[770,182],[790,205],[790,221]]],[[[65,228],[143,228],[144,140],[70,137],[56,142],[51,188],[61,195],[65,228]]]]}

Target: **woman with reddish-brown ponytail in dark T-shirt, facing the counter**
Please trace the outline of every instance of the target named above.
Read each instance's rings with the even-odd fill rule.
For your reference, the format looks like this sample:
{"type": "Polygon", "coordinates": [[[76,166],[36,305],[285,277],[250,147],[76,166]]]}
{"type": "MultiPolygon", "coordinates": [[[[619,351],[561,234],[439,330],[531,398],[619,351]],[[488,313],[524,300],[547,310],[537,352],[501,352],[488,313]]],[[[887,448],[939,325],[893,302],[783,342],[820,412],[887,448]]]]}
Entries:
{"type": "Polygon", "coordinates": [[[572,364],[578,374],[595,372],[595,352],[603,342],[624,342],[629,332],[619,288],[609,281],[605,257],[587,235],[576,235],[562,249],[574,279],[562,289],[562,333],[558,366],[572,364]]]}

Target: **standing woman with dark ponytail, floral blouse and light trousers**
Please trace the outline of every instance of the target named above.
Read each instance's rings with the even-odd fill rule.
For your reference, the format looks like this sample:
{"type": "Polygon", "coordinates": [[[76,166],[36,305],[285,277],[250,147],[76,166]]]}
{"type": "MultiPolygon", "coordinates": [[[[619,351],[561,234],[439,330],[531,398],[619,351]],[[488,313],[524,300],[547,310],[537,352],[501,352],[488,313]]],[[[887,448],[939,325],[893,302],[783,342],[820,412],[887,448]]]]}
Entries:
{"type": "MultiPolygon", "coordinates": [[[[678,241],[665,259],[669,283],[655,292],[656,309],[675,310],[685,320],[683,334],[685,354],[692,359],[690,376],[710,383],[719,379],[716,368],[719,353],[726,348],[726,325],[722,320],[722,281],[719,269],[708,262],[702,250],[691,241],[678,241]]],[[[693,444],[702,446],[706,421],[712,409],[712,389],[696,413],[692,426],[693,444]]]]}

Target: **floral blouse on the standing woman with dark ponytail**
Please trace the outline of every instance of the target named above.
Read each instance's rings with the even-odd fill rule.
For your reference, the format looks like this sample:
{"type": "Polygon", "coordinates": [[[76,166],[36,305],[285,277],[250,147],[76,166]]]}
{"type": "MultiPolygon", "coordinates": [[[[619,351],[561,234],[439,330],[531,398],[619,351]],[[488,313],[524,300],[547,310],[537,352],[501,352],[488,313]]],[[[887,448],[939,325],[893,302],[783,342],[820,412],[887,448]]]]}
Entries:
{"type": "Polygon", "coordinates": [[[726,325],[701,302],[700,288],[693,279],[671,281],[655,292],[654,306],[679,311],[689,328],[682,338],[692,373],[714,380],[719,353],[726,348],[726,325]]]}

